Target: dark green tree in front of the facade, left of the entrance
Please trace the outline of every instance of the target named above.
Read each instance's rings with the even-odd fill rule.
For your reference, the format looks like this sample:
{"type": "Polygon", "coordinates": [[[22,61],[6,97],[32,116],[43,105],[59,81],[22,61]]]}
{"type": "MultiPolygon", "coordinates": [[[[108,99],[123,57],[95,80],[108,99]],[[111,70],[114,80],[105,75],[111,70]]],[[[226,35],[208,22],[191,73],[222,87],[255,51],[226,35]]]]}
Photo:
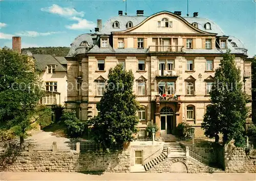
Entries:
{"type": "Polygon", "coordinates": [[[108,78],[106,91],[97,104],[99,115],[89,120],[94,140],[103,148],[132,141],[139,122],[136,112],[140,106],[133,94],[132,71],[127,72],[118,64],[110,69],[108,78]]]}

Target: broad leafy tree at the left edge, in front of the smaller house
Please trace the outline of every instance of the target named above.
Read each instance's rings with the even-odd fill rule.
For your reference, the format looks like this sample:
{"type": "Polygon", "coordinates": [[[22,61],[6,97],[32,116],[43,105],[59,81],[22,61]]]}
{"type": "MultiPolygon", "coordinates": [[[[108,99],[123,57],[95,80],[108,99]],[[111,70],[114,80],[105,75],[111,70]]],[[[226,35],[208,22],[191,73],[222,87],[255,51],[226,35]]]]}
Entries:
{"type": "Polygon", "coordinates": [[[31,123],[49,112],[38,106],[44,94],[39,74],[33,59],[8,48],[0,50],[0,64],[0,128],[13,128],[23,144],[31,123]]]}

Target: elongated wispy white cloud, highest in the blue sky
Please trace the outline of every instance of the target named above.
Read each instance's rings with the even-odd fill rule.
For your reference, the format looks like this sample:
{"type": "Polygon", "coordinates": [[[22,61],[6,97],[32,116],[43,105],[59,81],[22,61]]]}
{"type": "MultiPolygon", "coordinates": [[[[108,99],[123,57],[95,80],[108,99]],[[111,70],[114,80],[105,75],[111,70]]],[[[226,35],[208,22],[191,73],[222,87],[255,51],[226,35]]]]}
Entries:
{"type": "Polygon", "coordinates": [[[80,16],[83,17],[84,16],[84,12],[78,12],[75,10],[75,8],[62,8],[58,5],[53,4],[50,7],[47,8],[41,8],[41,11],[45,11],[45,12],[49,12],[49,13],[53,13],[53,14],[58,14],[61,16],[67,16],[67,17],[71,17],[71,16],[80,16]]]}

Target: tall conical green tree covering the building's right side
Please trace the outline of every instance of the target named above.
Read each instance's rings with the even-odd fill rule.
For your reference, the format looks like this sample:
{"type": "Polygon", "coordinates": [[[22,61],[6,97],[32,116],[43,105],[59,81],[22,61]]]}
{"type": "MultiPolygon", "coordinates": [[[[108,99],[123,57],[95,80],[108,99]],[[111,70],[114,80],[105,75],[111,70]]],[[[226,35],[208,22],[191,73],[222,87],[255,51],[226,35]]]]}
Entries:
{"type": "Polygon", "coordinates": [[[247,95],[243,91],[241,71],[236,67],[234,55],[230,51],[223,56],[215,72],[215,83],[210,93],[212,106],[207,108],[202,128],[210,138],[223,142],[235,140],[236,146],[245,144],[245,120],[248,117],[247,95]]]}

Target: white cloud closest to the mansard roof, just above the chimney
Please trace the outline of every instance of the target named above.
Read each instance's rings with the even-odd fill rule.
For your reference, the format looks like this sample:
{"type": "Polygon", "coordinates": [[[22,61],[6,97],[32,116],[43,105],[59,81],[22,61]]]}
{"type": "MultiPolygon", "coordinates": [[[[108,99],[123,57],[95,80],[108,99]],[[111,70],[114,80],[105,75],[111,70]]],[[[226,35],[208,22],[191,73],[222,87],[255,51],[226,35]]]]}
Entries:
{"type": "Polygon", "coordinates": [[[93,21],[89,21],[87,19],[82,19],[79,17],[72,17],[72,20],[77,20],[77,24],[67,25],[66,28],[72,30],[84,30],[84,29],[91,29],[96,27],[93,21]]]}

